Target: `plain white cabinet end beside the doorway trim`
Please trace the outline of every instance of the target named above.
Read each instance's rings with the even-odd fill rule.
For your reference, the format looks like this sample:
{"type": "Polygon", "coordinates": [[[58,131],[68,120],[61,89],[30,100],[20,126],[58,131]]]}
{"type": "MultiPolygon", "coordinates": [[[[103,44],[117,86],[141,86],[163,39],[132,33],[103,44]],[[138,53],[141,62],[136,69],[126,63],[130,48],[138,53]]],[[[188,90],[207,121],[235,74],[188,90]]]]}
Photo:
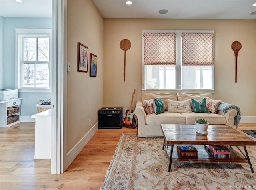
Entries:
{"type": "Polygon", "coordinates": [[[50,159],[52,153],[52,109],[36,113],[35,118],[35,155],[34,159],[50,159]]]}

